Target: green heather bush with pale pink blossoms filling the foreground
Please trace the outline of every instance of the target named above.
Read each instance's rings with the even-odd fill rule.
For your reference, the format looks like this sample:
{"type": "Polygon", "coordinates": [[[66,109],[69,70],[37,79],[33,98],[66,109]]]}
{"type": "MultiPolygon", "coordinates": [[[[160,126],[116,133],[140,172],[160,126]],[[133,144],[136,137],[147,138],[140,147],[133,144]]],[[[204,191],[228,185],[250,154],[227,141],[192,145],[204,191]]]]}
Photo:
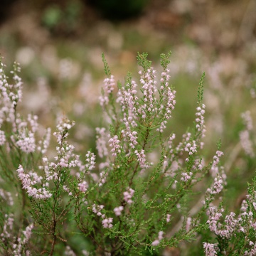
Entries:
{"type": "MultiPolygon", "coordinates": [[[[169,130],[176,105],[170,55],[161,54],[158,78],[146,53],[138,54],[139,82],[128,73],[124,85],[102,55],[97,151],[76,151],[68,142],[75,122],[61,117],[54,154],[50,128],[18,110],[18,64],[11,84],[1,61],[1,255],[161,255],[182,242],[191,242],[195,255],[255,255],[256,179],[235,218],[223,203],[221,142],[212,159],[205,156],[204,74],[192,128],[181,138],[169,130]]],[[[250,112],[242,119],[242,148],[252,158],[250,112]]]]}

